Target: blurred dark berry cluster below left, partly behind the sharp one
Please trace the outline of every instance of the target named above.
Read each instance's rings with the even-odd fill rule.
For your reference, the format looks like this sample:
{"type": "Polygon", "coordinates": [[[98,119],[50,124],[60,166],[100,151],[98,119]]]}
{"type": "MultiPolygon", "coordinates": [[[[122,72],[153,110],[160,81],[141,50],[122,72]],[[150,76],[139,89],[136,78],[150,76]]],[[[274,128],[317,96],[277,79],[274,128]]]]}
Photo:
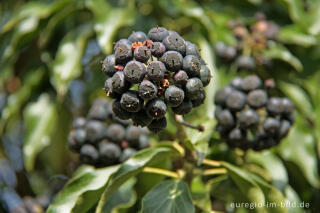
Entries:
{"type": "Polygon", "coordinates": [[[119,119],[111,103],[98,98],[87,118],[78,117],[68,138],[69,148],[80,154],[82,163],[105,167],[125,161],[149,146],[148,130],[119,119]]]}

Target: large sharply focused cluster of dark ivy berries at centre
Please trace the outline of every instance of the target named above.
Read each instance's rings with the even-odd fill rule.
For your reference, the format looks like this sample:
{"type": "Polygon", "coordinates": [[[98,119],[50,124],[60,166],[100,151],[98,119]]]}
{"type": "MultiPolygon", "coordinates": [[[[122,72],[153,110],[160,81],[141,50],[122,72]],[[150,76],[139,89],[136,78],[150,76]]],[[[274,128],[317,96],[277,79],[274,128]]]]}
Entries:
{"type": "Polygon", "coordinates": [[[102,71],[108,76],[104,89],[115,99],[113,112],[154,132],[166,128],[168,108],[185,115],[201,105],[211,80],[199,48],[163,27],[116,42],[102,71]]]}

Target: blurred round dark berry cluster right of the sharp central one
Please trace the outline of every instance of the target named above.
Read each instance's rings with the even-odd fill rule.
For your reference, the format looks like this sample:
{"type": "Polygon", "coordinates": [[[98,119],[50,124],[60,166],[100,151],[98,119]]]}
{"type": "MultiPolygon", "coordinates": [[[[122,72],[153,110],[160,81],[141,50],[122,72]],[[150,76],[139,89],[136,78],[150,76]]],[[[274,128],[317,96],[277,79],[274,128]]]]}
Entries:
{"type": "Polygon", "coordinates": [[[216,92],[216,126],[230,147],[256,151],[276,146],[294,123],[294,105],[269,97],[270,84],[256,75],[236,77],[216,92]]]}

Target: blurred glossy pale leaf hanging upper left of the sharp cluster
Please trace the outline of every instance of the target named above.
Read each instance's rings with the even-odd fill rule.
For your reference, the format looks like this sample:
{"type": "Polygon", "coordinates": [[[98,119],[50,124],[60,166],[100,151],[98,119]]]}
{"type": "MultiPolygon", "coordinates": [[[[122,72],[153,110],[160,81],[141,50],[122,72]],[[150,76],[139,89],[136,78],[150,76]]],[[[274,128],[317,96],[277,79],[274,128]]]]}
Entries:
{"type": "Polygon", "coordinates": [[[52,64],[52,83],[60,96],[64,96],[70,82],[81,75],[81,58],[92,33],[89,25],[81,26],[70,31],[60,44],[52,64]]]}

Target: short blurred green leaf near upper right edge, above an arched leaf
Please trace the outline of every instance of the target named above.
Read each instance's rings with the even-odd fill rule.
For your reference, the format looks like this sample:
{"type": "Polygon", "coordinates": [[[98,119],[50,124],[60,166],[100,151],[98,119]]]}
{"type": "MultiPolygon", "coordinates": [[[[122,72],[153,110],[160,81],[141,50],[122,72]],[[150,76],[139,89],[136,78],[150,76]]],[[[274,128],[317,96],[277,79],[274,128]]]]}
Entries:
{"type": "Polygon", "coordinates": [[[303,47],[309,47],[317,44],[316,37],[306,34],[297,25],[281,27],[278,39],[285,44],[300,45],[303,47]]]}

